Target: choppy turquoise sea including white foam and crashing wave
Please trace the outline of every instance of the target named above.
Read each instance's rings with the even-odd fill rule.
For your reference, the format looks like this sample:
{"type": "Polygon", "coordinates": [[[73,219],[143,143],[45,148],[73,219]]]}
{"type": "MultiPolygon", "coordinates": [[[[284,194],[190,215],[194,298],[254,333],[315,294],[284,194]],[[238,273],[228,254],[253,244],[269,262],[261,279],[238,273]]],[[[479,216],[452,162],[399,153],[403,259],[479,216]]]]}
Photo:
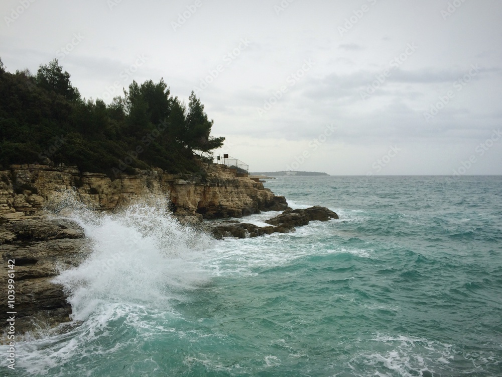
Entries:
{"type": "Polygon", "coordinates": [[[339,219],[214,240],[162,198],[115,214],[68,204],[54,216],[89,239],[55,278],[73,322],[19,335],[14,370],[0,346],[0,375],[502,375],[502,176],[264,185],[339,219]]]}

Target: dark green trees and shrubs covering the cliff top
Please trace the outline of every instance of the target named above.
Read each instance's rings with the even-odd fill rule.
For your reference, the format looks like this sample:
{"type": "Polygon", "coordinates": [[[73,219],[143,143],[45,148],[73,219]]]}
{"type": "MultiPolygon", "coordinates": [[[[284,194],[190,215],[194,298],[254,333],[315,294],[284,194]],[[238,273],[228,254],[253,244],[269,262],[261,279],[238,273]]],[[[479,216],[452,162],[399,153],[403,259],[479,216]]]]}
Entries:
{"type": "Polygon", "coordinates": [[[152,166],[188,173],[198,170],[194,152],[203,157],[224,140],[211,136],[195,94],[185,105],[162,78],[133,81],[107,105],[82,98],[56,59],[35,75],[7,72],[0,60],[0,98],[0,169],[51,160],[110,177],[152,166]]]}

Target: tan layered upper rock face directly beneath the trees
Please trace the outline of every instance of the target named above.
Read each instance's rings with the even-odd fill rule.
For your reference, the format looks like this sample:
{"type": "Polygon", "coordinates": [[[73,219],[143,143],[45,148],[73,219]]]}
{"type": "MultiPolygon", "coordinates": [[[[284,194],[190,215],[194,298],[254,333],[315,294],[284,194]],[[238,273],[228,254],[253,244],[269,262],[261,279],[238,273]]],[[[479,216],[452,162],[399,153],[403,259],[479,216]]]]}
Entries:
{"type": "Polygon", "coordinates": [[[82,203],[97,210],[113,210],[145,196],[163,196],[170,199],[175,215],[207,219],[287,208],[285,198],[274,196],[261,182],[237,178],[221,165],[202,168],[205,179],[153,169],[112,180],[75,167],[12,165],[0,171],[0,221],[33,215],[57,204],[68,192],[75,192],[82,203]]]}

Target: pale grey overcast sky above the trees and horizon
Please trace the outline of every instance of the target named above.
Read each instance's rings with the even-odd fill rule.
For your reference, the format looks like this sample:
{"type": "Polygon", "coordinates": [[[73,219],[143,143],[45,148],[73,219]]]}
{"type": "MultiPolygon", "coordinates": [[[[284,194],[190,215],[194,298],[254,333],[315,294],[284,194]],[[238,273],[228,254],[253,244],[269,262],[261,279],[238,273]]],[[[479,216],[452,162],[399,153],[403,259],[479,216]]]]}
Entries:
{"type": "Polygon", "coordinates": [[[250,171],[502,174],[499,0],[3,0],[10,72],[195,91],[250,171]]]}

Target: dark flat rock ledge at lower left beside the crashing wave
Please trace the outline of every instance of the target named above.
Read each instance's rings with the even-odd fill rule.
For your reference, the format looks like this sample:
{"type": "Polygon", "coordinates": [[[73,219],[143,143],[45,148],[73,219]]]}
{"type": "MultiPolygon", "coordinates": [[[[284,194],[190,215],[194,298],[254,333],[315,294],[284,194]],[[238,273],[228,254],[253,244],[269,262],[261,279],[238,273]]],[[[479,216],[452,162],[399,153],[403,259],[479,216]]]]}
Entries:
{"type": "MultiPolygon", "coordinates": [[[[67,295],[52,279],[85,259],[85,244],[83,229],[71,220],[33,216],[0,225],[1,281],[8,281],[9,259],[15,261],[17,334],[70,321],[67,295]]],[[[7,300],[1,295],[0,307],[7,308],[7,300]]],[[[7,319],[0,312],[3,329],[7,319]]]]}

